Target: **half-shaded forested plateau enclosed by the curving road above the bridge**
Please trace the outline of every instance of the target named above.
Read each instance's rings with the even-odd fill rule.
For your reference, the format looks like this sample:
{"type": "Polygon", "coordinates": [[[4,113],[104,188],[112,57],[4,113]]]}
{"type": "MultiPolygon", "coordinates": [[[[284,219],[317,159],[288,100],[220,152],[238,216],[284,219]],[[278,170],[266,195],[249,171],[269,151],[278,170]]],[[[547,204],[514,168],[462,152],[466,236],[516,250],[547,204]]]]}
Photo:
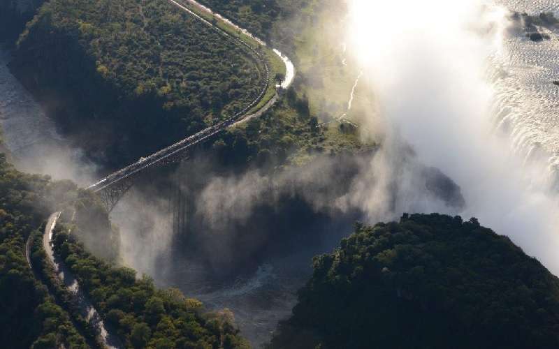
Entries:
{"type": "Polygon", "coordinates": [[[52,0],[12,68],[93,158],[122,165],[258,96],[249,50],[167,1],[52,0]]]}

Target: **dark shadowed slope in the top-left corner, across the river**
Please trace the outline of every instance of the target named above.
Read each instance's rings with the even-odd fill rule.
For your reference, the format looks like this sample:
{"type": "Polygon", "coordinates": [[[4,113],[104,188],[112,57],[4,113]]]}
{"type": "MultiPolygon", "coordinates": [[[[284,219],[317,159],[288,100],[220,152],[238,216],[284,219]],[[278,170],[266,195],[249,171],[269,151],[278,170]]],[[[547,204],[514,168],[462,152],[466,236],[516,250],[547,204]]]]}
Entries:
{"type": "Polygon", "coordinates": [[[13,45],[44,0],[0,1],[0,42],[13,45]]]}

